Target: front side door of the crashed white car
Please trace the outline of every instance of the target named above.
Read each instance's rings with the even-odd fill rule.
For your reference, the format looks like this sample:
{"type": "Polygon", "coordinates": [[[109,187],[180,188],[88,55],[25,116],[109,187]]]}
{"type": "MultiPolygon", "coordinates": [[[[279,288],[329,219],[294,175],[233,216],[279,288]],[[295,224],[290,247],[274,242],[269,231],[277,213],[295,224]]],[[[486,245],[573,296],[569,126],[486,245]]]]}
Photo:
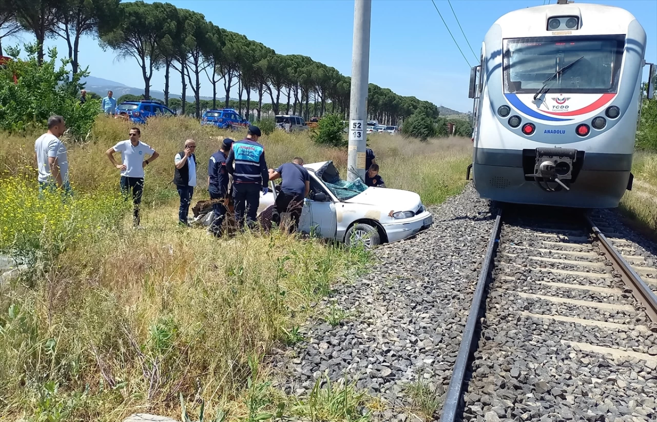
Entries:
{"type": "Polygon", "coordinates": [[[310,192],[311,198],[316,192],[321,192],[325,194],[326,200],[316,201],[310,198],[304,200],[304,208],[299,219],[300,230],[305,234],[334,239],[338,228],[335,203],[313,174],[310,175],[310,192]]]}

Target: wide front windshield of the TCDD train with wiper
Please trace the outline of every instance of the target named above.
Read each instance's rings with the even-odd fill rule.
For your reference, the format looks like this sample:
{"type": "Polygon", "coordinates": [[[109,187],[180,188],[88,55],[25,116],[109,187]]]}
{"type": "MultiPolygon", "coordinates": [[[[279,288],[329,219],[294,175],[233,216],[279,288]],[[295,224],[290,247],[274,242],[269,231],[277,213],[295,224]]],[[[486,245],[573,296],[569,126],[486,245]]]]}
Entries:
{"type": "Polygon", "coordinates": [[[505,40],[506,93],[536,93],[548,83],[560,93],[615,93],[625,37],[541,37],[505,40]]]}

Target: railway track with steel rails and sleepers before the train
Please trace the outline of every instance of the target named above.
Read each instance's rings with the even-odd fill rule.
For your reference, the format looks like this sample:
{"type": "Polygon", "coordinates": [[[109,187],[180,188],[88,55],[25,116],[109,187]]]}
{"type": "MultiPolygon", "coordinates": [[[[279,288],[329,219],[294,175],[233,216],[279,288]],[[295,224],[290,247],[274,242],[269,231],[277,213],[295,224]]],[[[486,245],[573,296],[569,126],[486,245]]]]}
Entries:
{"type": "Polygon", "coordinates": [[[653,262],[600,215],[499,211],[440,420],[657,420],[653,262]]]}

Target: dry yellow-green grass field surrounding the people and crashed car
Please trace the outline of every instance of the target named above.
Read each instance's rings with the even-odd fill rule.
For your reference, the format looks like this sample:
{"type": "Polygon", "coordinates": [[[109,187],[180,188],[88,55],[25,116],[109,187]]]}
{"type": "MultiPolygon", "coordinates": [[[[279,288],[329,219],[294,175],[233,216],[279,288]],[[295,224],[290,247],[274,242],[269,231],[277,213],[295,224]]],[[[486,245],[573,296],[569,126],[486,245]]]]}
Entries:
{"type": "MultiPolygon", "coordinates": [[[[90,142],[68,144],[76,196],[65,203],[37,200],[32,145],[39,133],[0,139],[0,249],[32,251],[35,261],[0,289],[0,419],[179,417],[183,404],[198,419],[202,398],[207,420],[283,411],[304,420],[367,421],[369,399],[353,384],[321,379],[308,396],[286,397],[271,387],[260,360],[273,347],[304,341],[300,326],[318,314],[311,304],[365,270],[369,253],[280,232],[217,241],[202,229],[177,228],[171,178],[184,140],[198,145],[200,200],[210,154],[223,137],[244,135],[186,118],[141,128],[161,158],[146,171],[145,230],[132,230],[129,204],[117,201],[118,171],[104,156],[130,126],[101,116],[90,142]]],[[[317,146],[307,133],[275,131],[262,142],[270,167],[302,156],[346,168],[346,150],[317,146]]],[[[469,140],[374,135],[371,148],[388,186],[419,192],[426,204],[464,186],[469,140]]],[[[319,315],[334,325],[349,316],[335,307],[319,315]]]]}

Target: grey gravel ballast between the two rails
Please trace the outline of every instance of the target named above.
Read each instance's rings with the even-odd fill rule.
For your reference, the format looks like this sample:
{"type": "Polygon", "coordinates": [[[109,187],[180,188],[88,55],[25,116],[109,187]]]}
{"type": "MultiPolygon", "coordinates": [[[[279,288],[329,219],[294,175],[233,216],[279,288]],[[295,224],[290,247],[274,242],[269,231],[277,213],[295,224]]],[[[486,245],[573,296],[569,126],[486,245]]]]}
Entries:
{"type": "MultiPolygon", "coordinates": [[[[617,225],[618,220],[615,219],[618,217],[613,212],[602,213],[610,225],[620,229],[613,236],[630,240],[623,242],[623,245],[636,247],[637,251],[645,254],[646,263],[652,263],[653,257],[645,249],[650,247],[649,243],[622,228],[620,224],[617,225]]],[[[613,278],[581,277],[537,270],[537,267],[549,267],[595,274],[611,272],[605,266],[600,268],[587,265],[586,259],[564,256],[563,261],[582,262],[546,262],[531,257],[549,257],[548,253],[535,253],[532,249],[519,252],[518,246],[545,248],[543,241],[550,240],[545,236],[532,235],[532,230],[528,228],[532,223],[545,227],[544,222],[527,219],[510,219],[503,226],[493,283],[486,301],[482,336],[474,354],[472,379],[464,394],[464,420],[657,420],[657,333],[637,327],[648,325],[645,314],[631,307],[609,309],[584,305],[603,303],[636,306],[631,295],[612,292],[612,289],[618,292],[618,284],[613,278]],[[549,284],[591,285],[609,289],[609,293],[555,288],[549,287],[549,284]],[[523,297],[518,292],[586,302],[581,302],[581,305],[555,303],[523,297]],[[528,316],[527,313],[537,316],[528,316]],[[541,318],[540,315],[622,325],[583,325],[541,318]],[[621,358],[589,352],[581,350],[574,342],[627,350],[648,356],[649,359],[621,358]]],[[[575,240],[577,236],[586,236],[585,232],[578,234],[558,229],[552,232],[566,241],[570,236],[575,245],[581,246],[581,250],[595,251],[590,243],[575,240]]],[[[555,249],[559,249],[559,246],[555,246],[555,249]]],[[[635,255],[629,249],[623,253],[635,255]]],[[[590,261],[604,262],[599,257],[590,261]]]]}

